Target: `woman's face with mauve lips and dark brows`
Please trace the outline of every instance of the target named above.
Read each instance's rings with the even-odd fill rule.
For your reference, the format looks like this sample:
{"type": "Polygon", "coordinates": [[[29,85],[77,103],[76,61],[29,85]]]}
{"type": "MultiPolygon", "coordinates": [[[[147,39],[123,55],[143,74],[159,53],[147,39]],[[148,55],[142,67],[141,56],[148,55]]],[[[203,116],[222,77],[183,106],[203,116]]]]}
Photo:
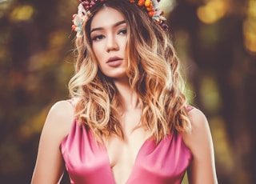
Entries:
{"type": "Polygon", "coordinates": [[[92,48],[100,70],[109,78],[126,77],[126,32],[127,25],[123,14],[113,8],[102,8],[92,19],[92,48]]]}

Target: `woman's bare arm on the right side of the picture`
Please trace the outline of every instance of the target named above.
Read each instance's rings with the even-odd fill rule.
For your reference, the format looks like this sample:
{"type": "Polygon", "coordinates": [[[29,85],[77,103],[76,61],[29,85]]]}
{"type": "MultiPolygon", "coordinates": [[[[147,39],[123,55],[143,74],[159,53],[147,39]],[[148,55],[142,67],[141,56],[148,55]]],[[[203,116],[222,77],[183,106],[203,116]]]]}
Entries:
{"type": "Polygon", "coordinates": [[[218,183],[215,162],[214,146],[210,128],[204,114],[198,109],[189,112],[192,131],[183,134],[184,142],[193,154],[193,160],[188,170],[189,183],[216,184],[218,183]]]}

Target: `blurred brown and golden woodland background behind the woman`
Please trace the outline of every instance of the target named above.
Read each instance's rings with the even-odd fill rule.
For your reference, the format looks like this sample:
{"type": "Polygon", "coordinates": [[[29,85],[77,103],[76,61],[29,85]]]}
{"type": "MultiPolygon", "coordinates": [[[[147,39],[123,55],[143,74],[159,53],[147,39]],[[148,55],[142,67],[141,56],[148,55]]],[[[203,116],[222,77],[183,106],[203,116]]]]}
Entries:
{"type": "MultiPolygon", "coordinates": [[[[46,114],[69,98],[77,6],[0,0],[2,183],[30,183],[46,114]]],[[[161,6],[187,95],[210,123],[219,183],[256,183],[256,1],[162,0],[161,6]]]]}

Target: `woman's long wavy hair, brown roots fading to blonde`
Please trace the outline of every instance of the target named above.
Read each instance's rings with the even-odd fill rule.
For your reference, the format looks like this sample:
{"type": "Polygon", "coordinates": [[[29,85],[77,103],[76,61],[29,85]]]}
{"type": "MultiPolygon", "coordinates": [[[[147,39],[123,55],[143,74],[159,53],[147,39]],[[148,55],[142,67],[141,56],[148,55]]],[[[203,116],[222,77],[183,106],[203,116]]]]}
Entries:
{"type": "Polygon", "coordinates": [[[118,10],[127,22],[126,62],[130,87],[142,106],[141,124],[160,142],[171,131],[189,131],[184,85],[178,57],[168,35],[145,10],[129,0],[97,2],[84,22],[82,37],[76,38],[75,74],[70,79],[71,98],[77,98],[75,117],[89,128],[96,140],[117,135],[124,138],[117,89],[98,68],[92,50],[90,24],[103,6],[118,10]]]}

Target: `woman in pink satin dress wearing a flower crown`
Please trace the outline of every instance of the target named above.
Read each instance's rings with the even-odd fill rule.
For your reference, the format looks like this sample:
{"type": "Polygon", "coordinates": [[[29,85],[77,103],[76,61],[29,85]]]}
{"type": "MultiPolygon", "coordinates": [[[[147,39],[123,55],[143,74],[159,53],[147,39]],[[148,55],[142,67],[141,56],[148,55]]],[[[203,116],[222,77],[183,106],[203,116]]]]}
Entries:
{"type": "Polygon", "coordinates": [[[156,0],[86,0],[71,99],[50,110],[32,183],[217,183],[208,122],[188,106],[156,0]],[[153,12],[153,13],[152,13],[153,12]]]}

